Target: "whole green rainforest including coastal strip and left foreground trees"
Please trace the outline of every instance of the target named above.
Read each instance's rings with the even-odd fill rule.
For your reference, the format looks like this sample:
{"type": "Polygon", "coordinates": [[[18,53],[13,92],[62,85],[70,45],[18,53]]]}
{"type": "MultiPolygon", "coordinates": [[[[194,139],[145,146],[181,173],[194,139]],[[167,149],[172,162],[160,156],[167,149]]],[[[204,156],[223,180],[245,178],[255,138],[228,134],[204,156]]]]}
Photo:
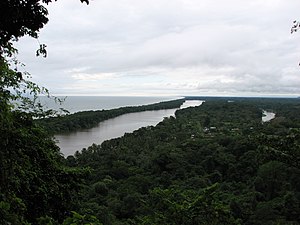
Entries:
{"type": "Polygon", "coordinates": [[[63,157],[53,133],[169,103],[45,111],[13,42],[38,37],[51,2],[0,2],[0,224],[300,224],[299,98],[186,97],[205,102],[63,157]]]}

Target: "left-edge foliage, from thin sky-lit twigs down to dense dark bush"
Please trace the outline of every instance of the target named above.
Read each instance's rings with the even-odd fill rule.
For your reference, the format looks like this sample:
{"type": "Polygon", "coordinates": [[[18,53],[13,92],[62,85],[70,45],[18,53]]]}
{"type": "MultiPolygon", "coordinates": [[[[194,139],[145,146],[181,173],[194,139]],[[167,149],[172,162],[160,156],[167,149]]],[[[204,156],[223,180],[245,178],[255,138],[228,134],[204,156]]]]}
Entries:
{"type": "Polygon", "coordinates": [[[33,122],[48,115],[35,101],[44,89],[4,58],[0,74],[0,224],[63,222],[88,171],[67,167],[51,136],[33,122]]]}

